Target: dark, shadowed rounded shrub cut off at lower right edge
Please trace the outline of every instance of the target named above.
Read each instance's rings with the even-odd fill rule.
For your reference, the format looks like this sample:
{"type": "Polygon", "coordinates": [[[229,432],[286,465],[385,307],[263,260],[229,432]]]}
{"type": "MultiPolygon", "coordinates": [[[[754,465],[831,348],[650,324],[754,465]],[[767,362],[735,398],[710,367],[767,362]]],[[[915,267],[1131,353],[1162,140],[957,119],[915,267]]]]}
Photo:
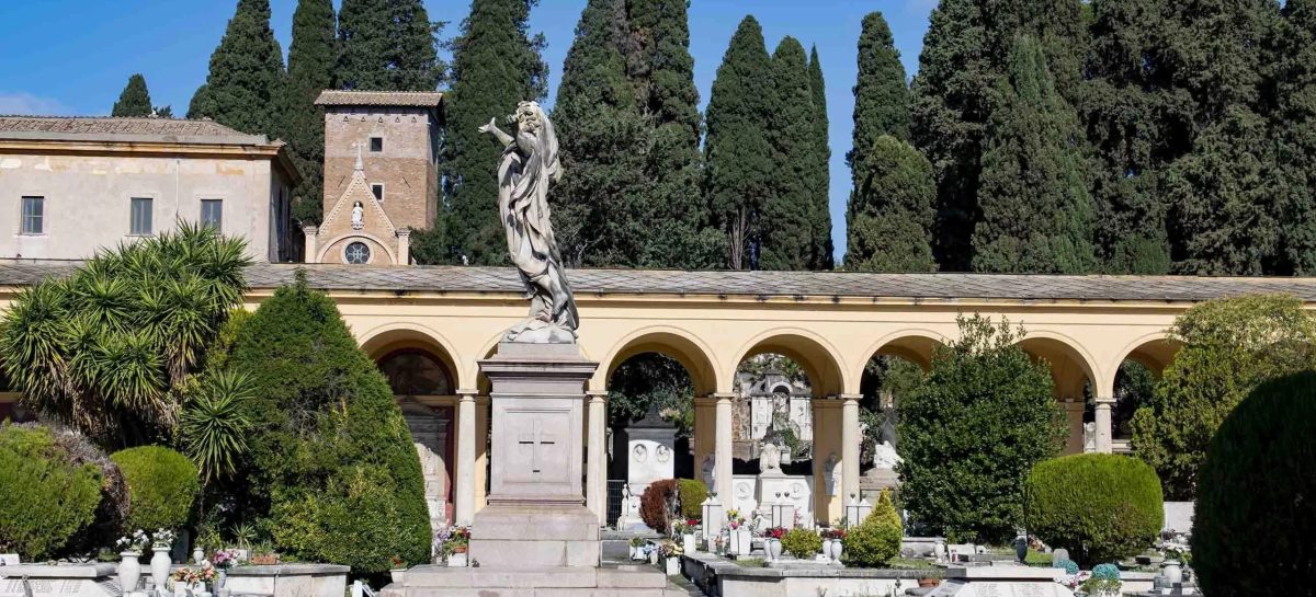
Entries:
{"type": "Polygon", "coordinates": [[[1262,384],[1207,448],[1192,521],[1203,594],[1265,592],[1316,579],[1316,373],[1262,384]]]}

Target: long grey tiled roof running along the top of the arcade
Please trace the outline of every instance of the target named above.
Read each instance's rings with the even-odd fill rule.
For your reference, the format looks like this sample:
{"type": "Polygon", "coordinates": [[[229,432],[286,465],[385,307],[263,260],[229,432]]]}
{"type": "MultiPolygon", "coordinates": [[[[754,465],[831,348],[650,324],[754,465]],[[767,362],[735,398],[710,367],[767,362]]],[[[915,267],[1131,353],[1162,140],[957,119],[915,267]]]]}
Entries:
{"type": "MultiPolygon", "coordinates": [[[[0,285],[28,285],[63,276],[76,262],[0,260],[0,285]]],[[[504,267],[354,267],[258,264],[247,270],[255,288],[292,281],[304,267],[311,285],[330,291],[521,293],[516,270],[504,267]]],[[[1200,301],[1224,296],[1288,293],[1316,302],[1316,277],[1044,276],[990,274],[849,274],[574,270],[578,296],[711,295],[838,296],[862,298],[1001,298],[1020,301],[1200,301]]]]}

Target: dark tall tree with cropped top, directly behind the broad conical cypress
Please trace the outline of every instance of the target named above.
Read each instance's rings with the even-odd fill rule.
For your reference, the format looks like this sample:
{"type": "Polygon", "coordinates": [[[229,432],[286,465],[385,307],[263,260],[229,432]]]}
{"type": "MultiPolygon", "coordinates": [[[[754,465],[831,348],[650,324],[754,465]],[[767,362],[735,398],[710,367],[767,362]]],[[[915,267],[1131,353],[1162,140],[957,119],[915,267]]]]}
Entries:
{"type": "Polygon", "coordinates": [[[1079,0],[942,0],[932,14],[913,84],[912,137],[937,172],[937,260],[961,271],[973,262],[969,243],[978,213],[983,135],[1000,103],[1015,39],[1032,36],[1042,49],[1057,92],[1080,95],[1087,34],[1079,0]]]}

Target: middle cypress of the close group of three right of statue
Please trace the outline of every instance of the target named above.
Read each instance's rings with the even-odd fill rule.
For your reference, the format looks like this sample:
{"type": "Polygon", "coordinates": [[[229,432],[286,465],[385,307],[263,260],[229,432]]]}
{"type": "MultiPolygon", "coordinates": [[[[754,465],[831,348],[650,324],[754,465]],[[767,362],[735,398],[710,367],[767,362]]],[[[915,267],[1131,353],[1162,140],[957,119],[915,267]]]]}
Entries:
{"type": "Polygon", "coordinates": [[[772,53],[771,191],[763,203],[758,267],[813,270],[815,196],[811,184],[817,145],[813,142],[813,92],[804,46],[784,37],[772,53]]]}

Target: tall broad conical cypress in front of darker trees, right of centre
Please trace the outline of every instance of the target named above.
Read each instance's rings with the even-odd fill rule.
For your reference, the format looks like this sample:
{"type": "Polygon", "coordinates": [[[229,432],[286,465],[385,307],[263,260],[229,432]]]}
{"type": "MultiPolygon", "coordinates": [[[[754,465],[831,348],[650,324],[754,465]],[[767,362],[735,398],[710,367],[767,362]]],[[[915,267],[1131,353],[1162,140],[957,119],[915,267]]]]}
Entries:
{"type": "Polygon", "coordinates": [[[982,158],[974,270],[1092,271],[1095,209],[1083,130],[1055,88],[1041,43],[1028,36],[1015,42],[1009,75],[996,89],[1001,105],[982,158]]]}

